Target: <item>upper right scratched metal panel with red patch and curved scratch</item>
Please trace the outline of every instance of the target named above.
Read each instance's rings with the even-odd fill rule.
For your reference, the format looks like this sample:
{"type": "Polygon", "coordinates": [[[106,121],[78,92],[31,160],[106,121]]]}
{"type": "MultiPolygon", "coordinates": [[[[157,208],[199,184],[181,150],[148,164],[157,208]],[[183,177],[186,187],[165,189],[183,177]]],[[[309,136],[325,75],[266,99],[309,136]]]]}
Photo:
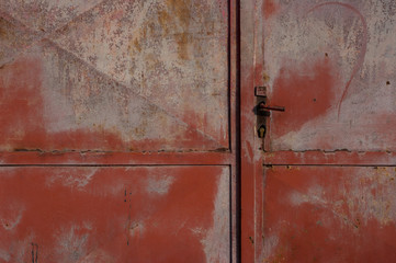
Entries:
{"type": "Polygon", "coordinates": [[[265,0],[271,150],[396,149],[396,3],[265,0]]]}

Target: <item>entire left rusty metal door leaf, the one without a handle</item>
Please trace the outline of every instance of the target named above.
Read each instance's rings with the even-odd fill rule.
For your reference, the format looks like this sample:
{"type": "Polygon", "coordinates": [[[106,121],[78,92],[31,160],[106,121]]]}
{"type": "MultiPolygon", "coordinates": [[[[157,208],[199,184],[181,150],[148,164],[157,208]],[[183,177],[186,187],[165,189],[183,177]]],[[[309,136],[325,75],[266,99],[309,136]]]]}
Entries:
{"type": "Polygon", "coordinates": [[[235,10],[0,1],[0,262],[236,259],[235,10]]]}

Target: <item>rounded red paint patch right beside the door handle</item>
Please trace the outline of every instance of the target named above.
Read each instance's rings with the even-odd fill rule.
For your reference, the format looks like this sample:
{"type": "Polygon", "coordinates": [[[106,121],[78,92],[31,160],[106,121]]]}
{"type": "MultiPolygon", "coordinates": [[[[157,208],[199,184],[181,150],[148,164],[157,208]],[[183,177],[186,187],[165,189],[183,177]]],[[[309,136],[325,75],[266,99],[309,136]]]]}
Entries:
{"type": "Polygon", "coordinates": [[[281,137],[298,130],[306,122],[325,114],[335,103],[337,71],[328,58],[315,64],[302,62],[281,69],[273,84],[270,103],[284,106],[272,113],[271,136],[281,137]]]}

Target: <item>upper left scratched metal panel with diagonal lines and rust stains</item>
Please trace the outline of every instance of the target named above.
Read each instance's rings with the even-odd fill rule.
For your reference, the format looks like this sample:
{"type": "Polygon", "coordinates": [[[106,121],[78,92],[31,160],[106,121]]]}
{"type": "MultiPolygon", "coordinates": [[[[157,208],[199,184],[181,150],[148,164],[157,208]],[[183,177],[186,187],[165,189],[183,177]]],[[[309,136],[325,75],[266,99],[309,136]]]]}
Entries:
{"type": "Polygon", "coordinates": [[[228,148],[227,1],[0,2],[0,150],[228,148]]]}

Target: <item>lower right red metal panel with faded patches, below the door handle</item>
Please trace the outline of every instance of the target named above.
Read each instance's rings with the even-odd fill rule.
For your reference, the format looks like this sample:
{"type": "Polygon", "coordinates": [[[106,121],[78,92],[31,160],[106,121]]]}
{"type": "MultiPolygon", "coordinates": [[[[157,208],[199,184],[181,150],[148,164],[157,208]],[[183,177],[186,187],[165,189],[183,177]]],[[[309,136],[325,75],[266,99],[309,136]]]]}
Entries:
{"type": "Polygon", "coordinates": [[[263,262],[395,262],[395,168],[265,169],[263,262]]]}

